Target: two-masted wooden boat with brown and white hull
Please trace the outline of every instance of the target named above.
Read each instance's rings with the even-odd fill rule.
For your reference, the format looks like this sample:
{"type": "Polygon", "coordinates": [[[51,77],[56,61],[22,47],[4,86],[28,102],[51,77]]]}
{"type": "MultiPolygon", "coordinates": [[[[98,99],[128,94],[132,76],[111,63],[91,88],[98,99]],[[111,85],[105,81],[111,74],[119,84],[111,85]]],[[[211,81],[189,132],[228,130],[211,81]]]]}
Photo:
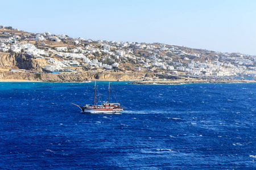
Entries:
{"type": "MultiPolygon", "coordinates": [[[[109,82],[109,95],[110,95],[110,82],[109,82]]],[[[101,105],[95,104],[96,101],[98,100],[98,99],[95,100],[95,97],[96,97],[96,80],[95,80],[93,105],[86,104],[85,106],[81,106],[73,103],[72,104],[79,107],[83,113],[119,113],[123,111],[123,108],[120,107],[119,103],[109,103],[109,95],[108,95],[108,103],[102,103],[101,105]]]]}

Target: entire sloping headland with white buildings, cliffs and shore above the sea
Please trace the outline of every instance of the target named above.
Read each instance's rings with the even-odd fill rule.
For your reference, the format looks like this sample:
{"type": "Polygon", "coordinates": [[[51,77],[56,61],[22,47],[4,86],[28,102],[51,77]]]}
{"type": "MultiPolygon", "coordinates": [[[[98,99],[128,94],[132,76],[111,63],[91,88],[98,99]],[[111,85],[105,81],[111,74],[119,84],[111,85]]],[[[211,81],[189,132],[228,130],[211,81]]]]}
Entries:
{"type": "Polygon", "coordinates": [[[229,83],[248,82],[243,77],[255,75],[256,56],[247,54],[30,33],[0,25],[0,81],[229,83]],[[233,78],[238,76],[241,80],[233,78]],[[166,81],[151,81],[159,79],[166,81]]]}

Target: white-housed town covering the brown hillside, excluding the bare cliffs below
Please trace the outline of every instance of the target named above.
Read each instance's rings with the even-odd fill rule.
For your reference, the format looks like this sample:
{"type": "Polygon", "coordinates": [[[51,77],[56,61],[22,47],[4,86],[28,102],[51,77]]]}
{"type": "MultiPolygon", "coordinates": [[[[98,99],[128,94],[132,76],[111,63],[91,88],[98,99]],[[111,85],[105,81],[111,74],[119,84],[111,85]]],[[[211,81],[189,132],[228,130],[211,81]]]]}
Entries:
{"type": "MultiPolygon", "coordinates": [[[[0,52],[44,60],[38,73],[143,72],[193,78],[256,75],[256,56],[162,43],[91,40],[50,32],[29,33],[0,25],[0,52]]],[[[14,71],[15,68],[10,68],[14,71]]],[[[17,70],[16,70],[17,71],[17,70]]],[[[19,70],[18,70],[19,71],[19,70]]]]}

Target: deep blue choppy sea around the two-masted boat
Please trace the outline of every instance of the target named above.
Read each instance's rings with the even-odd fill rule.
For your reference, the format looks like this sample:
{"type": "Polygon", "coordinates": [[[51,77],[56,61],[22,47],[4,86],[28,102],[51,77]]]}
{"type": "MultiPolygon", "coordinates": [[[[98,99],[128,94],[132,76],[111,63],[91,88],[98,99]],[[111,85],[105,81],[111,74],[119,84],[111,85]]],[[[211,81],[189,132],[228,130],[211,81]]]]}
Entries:
{"type": "Polygon", "coordinates": [[[111,85],[0,82],[0,169],[256,169],[256,83],[111,85]]]}

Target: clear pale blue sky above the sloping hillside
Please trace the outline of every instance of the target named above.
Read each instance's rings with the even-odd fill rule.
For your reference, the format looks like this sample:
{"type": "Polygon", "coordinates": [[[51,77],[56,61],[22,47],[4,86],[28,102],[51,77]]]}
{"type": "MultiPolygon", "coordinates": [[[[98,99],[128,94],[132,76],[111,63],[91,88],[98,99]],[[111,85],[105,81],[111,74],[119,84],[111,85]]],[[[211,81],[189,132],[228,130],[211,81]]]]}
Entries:
{"type": "Polygon", "coordinates": [[[12,0],[0,3],[0,25],[256,55],[255,9],[254,0],[12,0]]]}

